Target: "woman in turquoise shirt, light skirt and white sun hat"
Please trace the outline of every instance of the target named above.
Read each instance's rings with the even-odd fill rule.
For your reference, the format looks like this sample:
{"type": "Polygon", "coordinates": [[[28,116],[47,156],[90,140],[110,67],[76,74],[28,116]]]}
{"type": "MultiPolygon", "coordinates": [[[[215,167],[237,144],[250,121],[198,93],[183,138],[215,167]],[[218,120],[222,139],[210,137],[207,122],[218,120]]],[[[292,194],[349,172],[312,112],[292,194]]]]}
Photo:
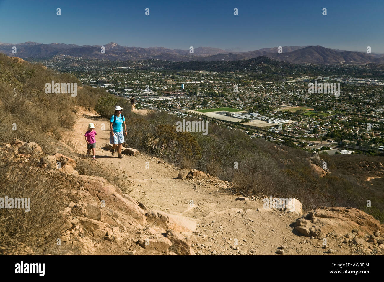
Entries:
{"type": "Polygon", "coordinates": [[[111,117],[111,135],[109,136],[109,143],[112,143],[112,155],[114,155],[116,147],[118,148],[118,158],[122,158],[121,147],[124,143],[124,135],[127,135],[127,126],[125,125],[124,115],[121,114],[122,108],[116,106],[115,114],[111,117]],[[122,124],[124,123],[124,135],[122,131],[122,124]]]}

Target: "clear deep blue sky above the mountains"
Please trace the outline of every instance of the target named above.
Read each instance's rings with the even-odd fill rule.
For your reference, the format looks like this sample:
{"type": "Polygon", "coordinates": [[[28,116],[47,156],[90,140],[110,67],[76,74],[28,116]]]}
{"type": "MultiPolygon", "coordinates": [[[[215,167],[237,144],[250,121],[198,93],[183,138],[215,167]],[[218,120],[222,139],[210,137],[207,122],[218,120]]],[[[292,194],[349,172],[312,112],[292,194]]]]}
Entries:
{"type": "Polygon", "coordinates": [[[384,53],[383,12],[384,0],[0,0],[0,42],[112,41],[122,46],[240,51],[321,45],[365,52],[371,46],[372,53],[384,53]],[[61,16],[56,8],[61,8],[61,16]]]}

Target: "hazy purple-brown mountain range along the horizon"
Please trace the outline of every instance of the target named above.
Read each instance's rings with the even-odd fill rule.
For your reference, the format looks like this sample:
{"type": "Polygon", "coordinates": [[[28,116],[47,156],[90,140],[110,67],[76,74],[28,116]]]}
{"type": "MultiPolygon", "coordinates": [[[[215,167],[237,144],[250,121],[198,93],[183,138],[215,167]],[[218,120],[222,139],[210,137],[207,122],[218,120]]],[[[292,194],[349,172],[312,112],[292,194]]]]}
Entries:
{"type": "Polygon", "coordinates": [[[189,50],[168,49],[164,47],[125,47],[114,42],[103,46],[105,47],[105,54],[101,53],[101,45],[78,46],[75,44],[41,44],[36,42],[20,44],[0,43],[0,53],[20,58],[68,56],[110,61],[140,59],[159,59],[174,62],[237,61],[266,56],[271,59],[294,64],[384,64],[384,54],[367,54],[366,52],[329,49],[323,46],[283,46],[282,54],[278,53],[278,47],[262,48],[248,52],[230,52],[220,48],[197,47],[194,48],[194,53],[190,54],[189,50]],[[17,54],[12,53],[13,46],[17,47],[17,54]]]}

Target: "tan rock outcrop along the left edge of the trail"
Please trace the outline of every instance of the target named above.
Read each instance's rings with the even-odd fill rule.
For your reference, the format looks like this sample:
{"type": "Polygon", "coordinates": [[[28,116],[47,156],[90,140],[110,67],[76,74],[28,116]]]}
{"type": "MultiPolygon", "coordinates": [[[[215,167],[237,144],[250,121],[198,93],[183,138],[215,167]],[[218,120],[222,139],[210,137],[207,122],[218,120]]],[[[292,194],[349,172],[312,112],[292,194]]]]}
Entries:
{"type": "Polygon", "coordinates": [[[63,254],[95,254],[101,244],[106,246],[107,241],[121,246],[124,242],[134,241],[147,251],[194,254],[189,237],[196,229],[194,219],[147,211],[143,204],[122,193],[113,182],[100,176],[79,175],[74,170],[74,159],[61,153],[46,155],[37,143],[13,139],[12,145],[1,143],[0,150],[7,154],[8,163],[28,162],[40,170],[42,177],[48,173],[55,174],[76,184],[61,188],[63,193],[70,192],[77,199],[60,211],[65,224],[57,239],[61,242],[63,254]],[[61,166],[56,164],[57,161],[61,166]],[[142,235],[135,239],[136,233],[142,235]],[[168,251],[171,246],[173,251],[168,251]],[[79,252],[72,251],[74,248],[79,252]]]}

